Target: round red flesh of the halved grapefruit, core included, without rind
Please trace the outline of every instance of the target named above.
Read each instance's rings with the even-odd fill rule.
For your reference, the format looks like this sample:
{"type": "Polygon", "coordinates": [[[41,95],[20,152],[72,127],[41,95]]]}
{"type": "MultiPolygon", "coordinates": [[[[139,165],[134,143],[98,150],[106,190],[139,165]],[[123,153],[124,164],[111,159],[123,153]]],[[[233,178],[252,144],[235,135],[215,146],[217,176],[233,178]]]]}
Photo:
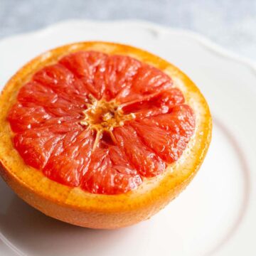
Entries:
{"type": "Polygon", "coordinates": [[[8,119],[26,164],[59,183],[105,194],[161,174],[195,128],[193,110],[168,75],[95,51],[71,53],[35,73],[8,119]]]}

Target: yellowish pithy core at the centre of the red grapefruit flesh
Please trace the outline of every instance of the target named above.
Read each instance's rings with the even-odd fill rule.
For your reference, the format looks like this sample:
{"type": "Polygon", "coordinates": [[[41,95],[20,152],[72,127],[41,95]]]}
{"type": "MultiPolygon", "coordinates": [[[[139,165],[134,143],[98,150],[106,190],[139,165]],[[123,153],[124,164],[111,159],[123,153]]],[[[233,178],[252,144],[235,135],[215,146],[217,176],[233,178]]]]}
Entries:
{"type": "Polygon", "coordinates": [[[114,127],[124,125],[124,122],[135,118],[135,114],[124,114],[117,102],[92,100],[83,111],[84,119],[80,122],[97,130],[112,131],[114,127]]]}

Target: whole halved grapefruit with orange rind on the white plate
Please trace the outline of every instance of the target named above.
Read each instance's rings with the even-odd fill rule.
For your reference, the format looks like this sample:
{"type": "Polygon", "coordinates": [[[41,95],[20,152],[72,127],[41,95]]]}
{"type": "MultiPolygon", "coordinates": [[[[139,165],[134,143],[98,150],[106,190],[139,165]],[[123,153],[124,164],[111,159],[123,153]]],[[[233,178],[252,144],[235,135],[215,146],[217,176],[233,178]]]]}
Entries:
{"type": "Polygon", "coordinates": [[[46,215],[88,228],[145,220],[206,156],[211,118],[196,85],[131,46],[55,48],[0,98],[1,176],[46,215]]]}

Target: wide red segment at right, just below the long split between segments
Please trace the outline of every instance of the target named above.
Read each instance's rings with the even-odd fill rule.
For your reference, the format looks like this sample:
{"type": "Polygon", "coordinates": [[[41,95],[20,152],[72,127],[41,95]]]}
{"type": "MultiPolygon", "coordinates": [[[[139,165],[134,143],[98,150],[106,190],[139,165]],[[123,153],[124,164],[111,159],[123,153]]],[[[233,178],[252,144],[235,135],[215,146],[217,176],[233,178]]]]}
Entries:
{"type": "Polygon", "coordinates": [[[130,124],[144,144],[169,164],[181,156],[195,129],[193,112],[187,105],[174,107],[170,114],[159,114],[130,124]]]}

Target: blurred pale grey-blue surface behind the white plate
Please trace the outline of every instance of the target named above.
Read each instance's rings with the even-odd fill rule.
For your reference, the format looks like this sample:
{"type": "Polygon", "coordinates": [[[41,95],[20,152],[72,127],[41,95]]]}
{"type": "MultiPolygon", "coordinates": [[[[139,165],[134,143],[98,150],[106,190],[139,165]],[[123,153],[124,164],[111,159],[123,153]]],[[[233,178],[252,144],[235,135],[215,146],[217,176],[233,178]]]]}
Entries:
{"type": "Polygon", "coordinates": [[[0,39],[68,18],[139,18],[186,28],[256,60],[256,0],[0,0],[0,39]]]}

